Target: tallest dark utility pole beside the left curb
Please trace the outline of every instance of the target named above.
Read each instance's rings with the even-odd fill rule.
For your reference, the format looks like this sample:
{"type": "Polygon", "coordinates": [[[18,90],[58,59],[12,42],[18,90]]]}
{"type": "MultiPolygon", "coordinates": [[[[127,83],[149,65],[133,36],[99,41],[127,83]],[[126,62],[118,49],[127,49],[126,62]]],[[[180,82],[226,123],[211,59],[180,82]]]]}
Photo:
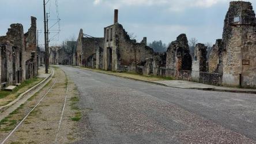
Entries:
{"type": "Polygon", "coordinates": [[[46,0],[43,0],[44,5],[44,49],[46,51],[45,59],[46,59],[46,74],[48,74],[48,67],[49,67],[49,49],[47,47],[47,34],[46,31],[46,0]]]}

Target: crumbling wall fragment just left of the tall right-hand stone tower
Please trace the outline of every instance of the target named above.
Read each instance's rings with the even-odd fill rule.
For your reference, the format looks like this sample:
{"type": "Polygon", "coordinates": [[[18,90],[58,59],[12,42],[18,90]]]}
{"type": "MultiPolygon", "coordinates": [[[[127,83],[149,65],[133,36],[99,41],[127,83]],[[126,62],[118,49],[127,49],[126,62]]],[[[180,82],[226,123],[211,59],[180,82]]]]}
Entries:
{"type": "Polygon", "coordinates": [[[209,73],[223,74],[223,42],[217,39],[208,59],[209,73]]]}

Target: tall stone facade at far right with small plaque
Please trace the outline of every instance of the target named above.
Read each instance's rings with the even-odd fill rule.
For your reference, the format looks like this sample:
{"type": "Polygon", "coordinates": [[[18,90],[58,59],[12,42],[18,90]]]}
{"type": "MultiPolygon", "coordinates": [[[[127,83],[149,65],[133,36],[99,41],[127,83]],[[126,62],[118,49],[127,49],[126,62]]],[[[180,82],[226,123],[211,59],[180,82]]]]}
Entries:
{"type": "Polygon", "coordinates": [[[223,44],[223,84],[256,87],[256,18],[250,2],[230,2],[223,44]]]}

